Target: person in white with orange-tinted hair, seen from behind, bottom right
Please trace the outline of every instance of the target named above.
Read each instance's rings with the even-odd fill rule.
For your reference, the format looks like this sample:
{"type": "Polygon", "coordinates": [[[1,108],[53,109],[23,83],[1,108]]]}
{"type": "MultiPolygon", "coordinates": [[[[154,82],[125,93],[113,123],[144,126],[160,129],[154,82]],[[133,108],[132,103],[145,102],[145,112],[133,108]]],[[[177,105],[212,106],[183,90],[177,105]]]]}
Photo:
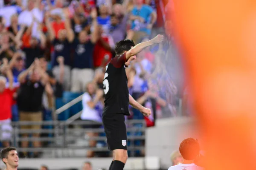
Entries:
{"type": "Polygon", "coordinates": [[[183,162],[169,167],[168,170],[204,170],[194,164],[195,159],[200,155],[199,143],[194,138],[184,139],[180,143],[180,154],[183,157],[183,162]]]}

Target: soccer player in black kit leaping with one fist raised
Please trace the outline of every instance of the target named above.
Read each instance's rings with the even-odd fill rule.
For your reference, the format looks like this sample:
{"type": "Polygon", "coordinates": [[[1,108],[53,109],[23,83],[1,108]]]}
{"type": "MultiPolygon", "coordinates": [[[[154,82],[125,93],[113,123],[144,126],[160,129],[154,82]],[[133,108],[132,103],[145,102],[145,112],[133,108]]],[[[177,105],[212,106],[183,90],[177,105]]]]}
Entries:
{"type": "Polygon", "coordinates": [[[125,68],[136,59],[136,54],[144,48],[163,42],[163,35],[157,35],[152,40],[134,45],[132,40],[121,40],[116,43],[114,57],[106,66],[103,80],[105,93],[105,108],[102,122],[107,136],[109,150],[113,150],[113,161],[109,170],[123,170],[128,158],[127,133],[125,115],[130,115],[129,104],[140,110],[144,116],[149,116],[151,110],[136,102],[129,94],[125,68]]]}

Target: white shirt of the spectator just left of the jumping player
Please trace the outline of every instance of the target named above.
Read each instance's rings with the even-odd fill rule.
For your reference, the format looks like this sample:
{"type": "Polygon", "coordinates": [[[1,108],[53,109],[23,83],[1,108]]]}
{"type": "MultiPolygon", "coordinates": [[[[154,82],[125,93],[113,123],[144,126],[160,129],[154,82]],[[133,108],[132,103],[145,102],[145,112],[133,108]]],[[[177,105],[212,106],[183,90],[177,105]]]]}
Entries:
{"type": "Polygon", "coordinates": [[[99,111],[97,111],[95,108],[90,108],[87,105],[87,102],[90,102],[91,100],[92,100],[92,97],[87,92],[84,93],[84,95],[82,97],[83,111],[81,114],[81,119],[82,120],[92,120],[95,122],[102,122],[99,111]]]}

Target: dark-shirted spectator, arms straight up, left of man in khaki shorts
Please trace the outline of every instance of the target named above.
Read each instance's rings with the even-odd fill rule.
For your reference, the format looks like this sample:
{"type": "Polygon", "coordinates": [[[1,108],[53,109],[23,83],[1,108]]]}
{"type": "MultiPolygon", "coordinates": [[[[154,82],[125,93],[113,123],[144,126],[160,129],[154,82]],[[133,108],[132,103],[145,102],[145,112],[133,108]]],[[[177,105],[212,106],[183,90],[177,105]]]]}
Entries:
{"type": "Polygon", "coordinates": [[[70,19],[66,15],[65,28],[58,31],[58,37],[56,37],[55,31],[50,23],[49,14],[46,14],[46,25],[49,31],[49,37],[54,45],[54,51],[52,55],[52,72],[55,77],[59,77],[60,68],[58,67],[57,58],[59,56],[64,57],[64,90],[70,90],[70,69],[71,69],[71,46],[74,40],[74,32],[70,25],[70,19]]]}

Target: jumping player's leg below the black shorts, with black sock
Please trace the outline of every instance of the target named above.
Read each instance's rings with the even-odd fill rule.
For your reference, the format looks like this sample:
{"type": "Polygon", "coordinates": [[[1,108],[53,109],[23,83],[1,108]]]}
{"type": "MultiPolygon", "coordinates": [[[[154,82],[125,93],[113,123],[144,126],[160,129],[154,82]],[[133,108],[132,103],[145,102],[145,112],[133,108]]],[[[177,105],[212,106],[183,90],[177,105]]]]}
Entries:
{"type": "Polygon", "coordinates": [[[127,150],[115,149],[113,150],[113,164],[111,170],[123,170],[128,159],[127,150]]]}

